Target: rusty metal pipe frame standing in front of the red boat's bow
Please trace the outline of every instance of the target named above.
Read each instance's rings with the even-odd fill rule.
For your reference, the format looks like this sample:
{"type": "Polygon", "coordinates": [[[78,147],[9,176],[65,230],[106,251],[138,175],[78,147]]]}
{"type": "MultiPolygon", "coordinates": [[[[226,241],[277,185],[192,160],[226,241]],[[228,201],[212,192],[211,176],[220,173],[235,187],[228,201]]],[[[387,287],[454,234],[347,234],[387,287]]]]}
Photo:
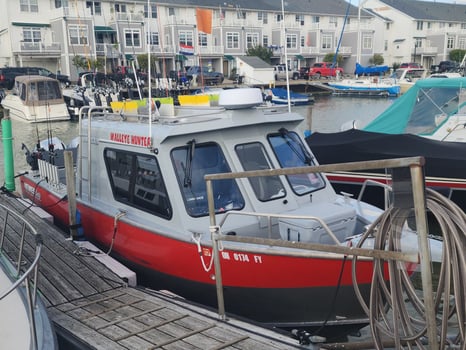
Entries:
{"type": "MultiPolygon", "coordinates": [[[[233,241],[246,244],[263,245],[267,248],[273,247],[286,247],[288,254],[296,254],[296,249],[304,249],[304,254],[311,254],[310,251],[322,251],[327,253],[344,254],[347,256],[366,256],[378,259],[391,259],[397,261],[420,261],[421,277],[424,290],[424,299],[426,305],[426,313],[428,314],[428,334],[433,338],[436,337],[436,324],[434,303],[431,295],[432,291],[432,271],[429,264],[429,248],[428,248],[428,235],[427,235],[427,218],[425,214],[425,197],[424,197],[424,178],[423,178],[423,157],[411,158],[398,158],[398,159],[384,159],[375,161],[353,162],[353,163],[340,163],[340,164],[326,164],[298,168],[280,168],[280,169],[267,169],[267,170],[253,170],[237,173],[221,173],[205,175],[207,185],[207,200],[209,206],[210,218],[210,233],[212,237],[212,250],[213,250],[213,264],[215,267],[215,283],[217,291],[218,313],[220,318],[225,319],[225,302],[223,295],[223,281],[222,281],[222,266],[220,260],[220,242],[233,241]],[[258,176],[281,176],[281,175],[296,175],[296,174],[309,174],[309,173],[328,173],[335,171],[356,171],[368,169],[387,169],[387,168],[409,168],[410,177],[412,182],[412,192],[414,199],[414,212],[416,217],[416,229],[419,236],[419,256],[417,254],[406,254],[398,251],[378,250],[349,247],[344,245],[320,244],[320,243],[305,243],[286,241],[282,239],[269,239],[257,237],[243,237],[239,235],[221,234],[220,226],[217,224],[215,205],[214,205],[214,192],[213,181],[225,179],[240,179],[258,176]],[[420,259],[418,259],[420,258],[420,259]]],[[[404,181],[406,179],[403,179],[404,181]]],[[[397,179],[397,181],[399,181],[397,179]]],[[[246,248],[246,247],[245,247],[246,248]]],[[[237,247],[235,246],[235,249],[237,247]]],[[[300,255],[302,256],[302,254],[300,255]]],[[[429,337],[429,339],[431,339],[429,337]]]]}

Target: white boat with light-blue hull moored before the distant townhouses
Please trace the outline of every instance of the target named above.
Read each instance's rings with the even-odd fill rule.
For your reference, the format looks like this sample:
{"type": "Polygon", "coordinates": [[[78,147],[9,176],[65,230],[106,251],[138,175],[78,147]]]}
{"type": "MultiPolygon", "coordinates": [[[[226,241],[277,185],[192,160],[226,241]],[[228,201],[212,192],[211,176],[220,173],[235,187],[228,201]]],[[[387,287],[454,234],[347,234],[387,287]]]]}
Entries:
{"type": "Polygon", "coordinates": [[[334,94],[396,97],[400,94],[400,85],[391,79],[367,77],[329,81],[334,94]]]}

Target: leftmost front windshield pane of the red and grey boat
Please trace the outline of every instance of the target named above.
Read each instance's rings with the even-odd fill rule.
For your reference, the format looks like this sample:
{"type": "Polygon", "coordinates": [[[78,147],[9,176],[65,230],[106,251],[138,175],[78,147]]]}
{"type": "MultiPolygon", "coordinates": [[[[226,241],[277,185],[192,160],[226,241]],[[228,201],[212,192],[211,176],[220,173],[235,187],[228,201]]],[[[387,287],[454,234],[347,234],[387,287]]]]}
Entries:
{"type": "MultiPolygon", "coordinates": [[[[186,211],[194,217],[208,215],[204,175],[231,172],[219,145],[196,144],[192,140],[187,146],[174,149],[171,158],[186,211]]],[[[234,179],[215,180],[212,185],[216,213],[244,207],[243,196],[234,179]]]]}

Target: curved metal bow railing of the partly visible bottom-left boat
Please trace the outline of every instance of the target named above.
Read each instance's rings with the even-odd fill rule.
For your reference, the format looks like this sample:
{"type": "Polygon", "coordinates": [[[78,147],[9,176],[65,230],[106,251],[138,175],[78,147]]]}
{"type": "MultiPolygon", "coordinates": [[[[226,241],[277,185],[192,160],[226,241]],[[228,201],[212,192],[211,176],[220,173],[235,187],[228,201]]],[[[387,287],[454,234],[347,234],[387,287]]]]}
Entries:
{"type": "MultiPolygon", "coordinates": [[[[34,309],[37,303],[37,281],[39,272],[39,259],[42,251],[42,236],[36,229],[26,221],[20,214],[0,204],[0,210],[3,212],[3,227],[0,232],[0,254],[7,259],[7,266],[5,270],[9,273],[14,280],[13,284],[6,290],[0,292],[0,300],[3,300],[13,291],[25,287],[28,316],[30,320],[30,328],[33,346],[32,349],[37,349],[37,329],[34,316],[34,309]],[[18,232],[18,242],[13,242],[7,239],[7,231],[15,230],[18,232]],[[31,239],[33,237],[33,239],[31,239]],[[8,246],[15,245],[18,249],[18,256],[8,256],[8,246]],[[28,259],[25,257],[25,246],[33,245],[35,249],[34,259],[25,266],[28,259]]],[[[13,235],[8,235],[11,237],[13,235]]]]}

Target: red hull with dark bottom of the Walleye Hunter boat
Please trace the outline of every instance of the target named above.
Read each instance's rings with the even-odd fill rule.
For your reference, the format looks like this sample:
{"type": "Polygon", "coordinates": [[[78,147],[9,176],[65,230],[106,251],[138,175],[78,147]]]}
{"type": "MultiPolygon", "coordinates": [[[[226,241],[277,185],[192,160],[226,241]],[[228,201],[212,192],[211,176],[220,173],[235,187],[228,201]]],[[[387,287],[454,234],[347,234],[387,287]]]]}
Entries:
{"type": "MultiPolygon", "coordinates": [[[[66,201],[59,201],[40,185],[22,177],[23,195],[32,199],[27,187],[36,189],[36,204],[47,206],[55,220],[68,221],[66,201]]],[[[78,210],[86,237],[108,248],[114,233],[114,218],[81,203],[78,203],[78,210]]],[[[214,268],[206,271],[201,261],[203,259],[209,266],[210,247],[202,248],[199,254],[193,242],[119,221],[112,254],[135,268],[138,279],[150,287],[171,289],[188,299],[216,306],[214,268]]],[[[333,302],[335,310],[329,324],[332,319],[336,322],[336,316],[338,319],[346,317],[347,323],[365,319],[354,296],[350,260],[229,250],[223,251],[221,257],[227,312],[274,325],[317,325],[328,318],[328,305],[333,302]]],[[[357,282],[366,297],[372,269],[371,261],[358,263],[357,282]]]]}

